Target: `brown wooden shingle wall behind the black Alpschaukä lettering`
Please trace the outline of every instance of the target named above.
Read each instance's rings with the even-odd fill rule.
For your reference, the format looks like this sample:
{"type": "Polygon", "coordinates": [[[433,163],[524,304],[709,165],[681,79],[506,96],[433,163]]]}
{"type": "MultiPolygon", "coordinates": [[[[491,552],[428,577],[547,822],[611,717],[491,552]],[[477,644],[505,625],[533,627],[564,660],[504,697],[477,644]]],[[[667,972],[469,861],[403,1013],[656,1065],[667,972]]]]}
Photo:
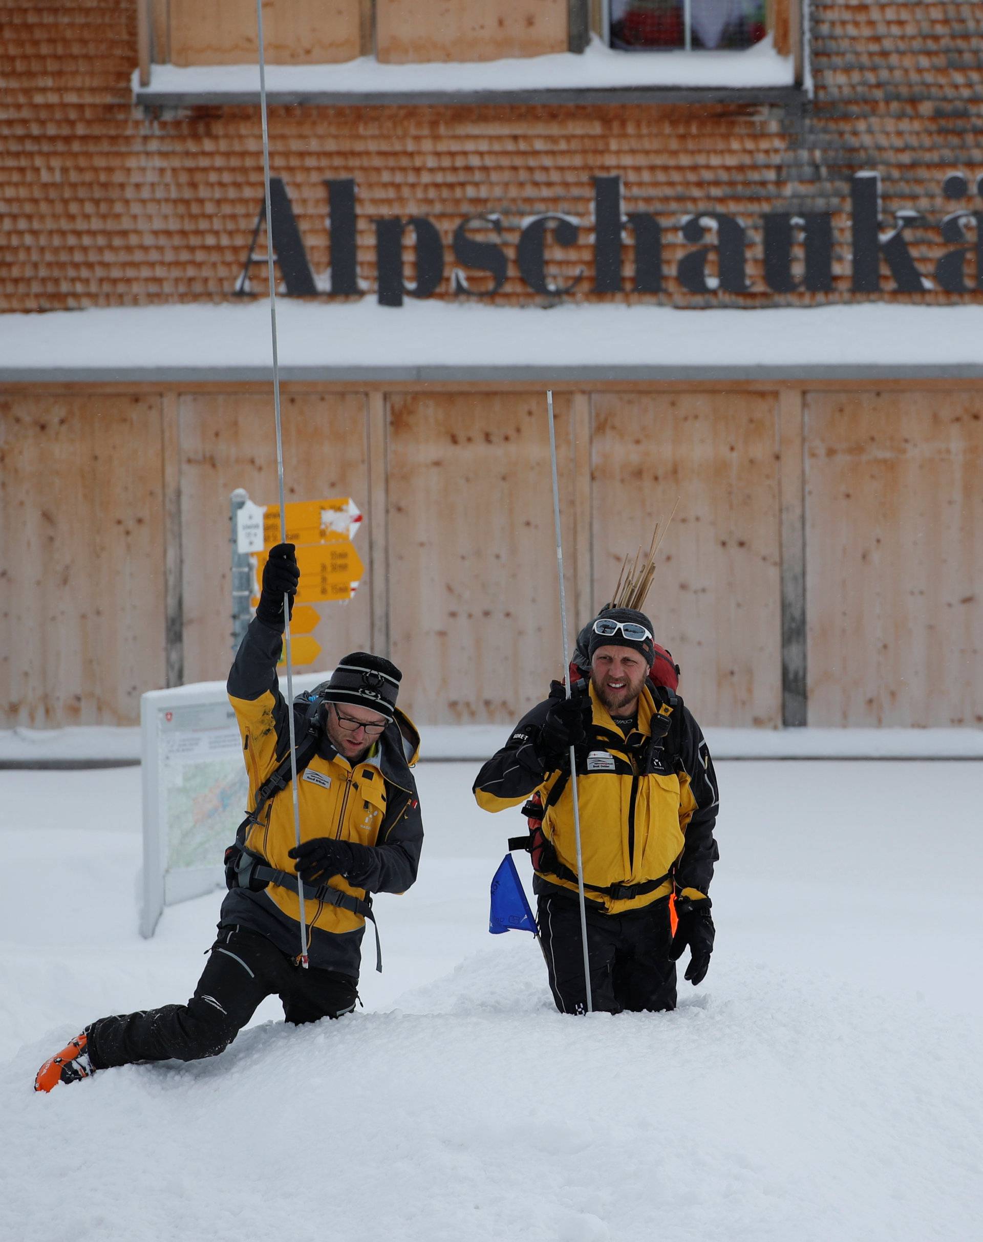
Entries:
{"type": "MultiPolygon", "coordinates": [[[[258,111],[134,108],[135,10],[133,0],[86,0],[71,12],[53,0],[4,5],[0,310],[232,296],[262,200],[258,111]]],[[[542,301],[518,276],[519,225],[560,211],[580,222],[579,237],[567,248],[551,245],[548,268],[558,283],[582,273],[573,298],[754,307],[869,297],[851,293],[849,278],[849,179],[864,169],[882,175],[886,222],[896,210],[930,221],[931,227],[906,226],[905,237],[921,272],[933,279],[937,258],[952,248],[940,237],[942,217],[957,207],[981,210],[974,183],[983,173],[977,98],[983,6],[813,0],[810,15],[813,98],[275,107],[273,173],[287,185],[316,274],[331,262],[324,181],[357,179],[359,277],[370,291],[375,217],[425,215],[437,225],[445,274],[435,296],[450,297],[455,227],[475,214],[497,214],[510,276],[496,301],[542,301]],[[966,175],[967,193],[951,200],[942,181],[956,170],[966,175]],[[655,212],[662,225],[661,293],[630,292],[630,246],[623,292],[593,292],[592,178],[613,174],[621,175],[625,211],[655,212]],[[681,286],[679,260],[695,245],[680,230],[701,211],[729,214],[744,225],[747,292],[690,293],[681,286]],[[831,292],[769,291],[761,224],[768,211],[834,214],[831,292]]],[[[971,226],[971,248],[972,233],[971,226]]],[[[711,256],[711,272],[713,263],[711,256]]],[[[946,293],[935,282],[923,293],[898,294],[882,262],[880,296],[979,299],[974,263],[969,256],[966,293],[946,293]]]]}

